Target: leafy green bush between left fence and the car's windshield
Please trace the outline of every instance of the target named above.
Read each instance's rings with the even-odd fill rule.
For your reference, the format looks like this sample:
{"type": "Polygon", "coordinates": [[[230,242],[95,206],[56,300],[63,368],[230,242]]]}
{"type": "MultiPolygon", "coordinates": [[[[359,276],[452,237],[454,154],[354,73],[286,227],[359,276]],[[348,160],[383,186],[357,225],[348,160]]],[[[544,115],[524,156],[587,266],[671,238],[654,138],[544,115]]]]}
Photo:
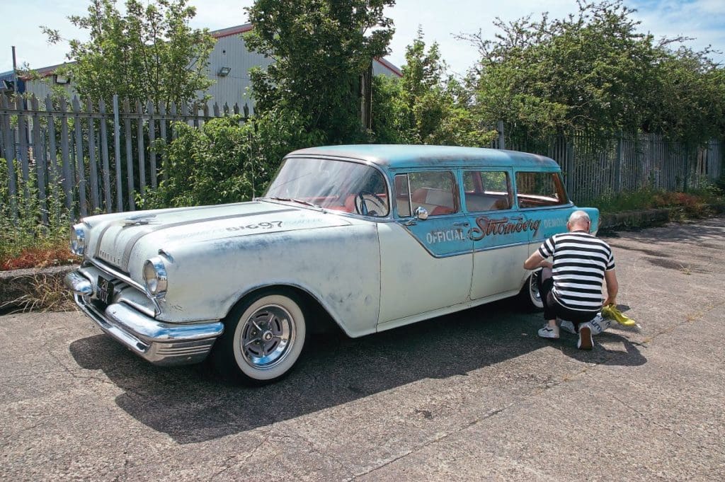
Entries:
{"type": "Polygon", "coordinates": [[[178,137],[166,146],[165,180],[139,204],[144,208],[248,201],[267,188],[289,151],[321,144],[304,119],[271,110],[249,122],[218,117],[196,129],[175,124],[178,137]]]}

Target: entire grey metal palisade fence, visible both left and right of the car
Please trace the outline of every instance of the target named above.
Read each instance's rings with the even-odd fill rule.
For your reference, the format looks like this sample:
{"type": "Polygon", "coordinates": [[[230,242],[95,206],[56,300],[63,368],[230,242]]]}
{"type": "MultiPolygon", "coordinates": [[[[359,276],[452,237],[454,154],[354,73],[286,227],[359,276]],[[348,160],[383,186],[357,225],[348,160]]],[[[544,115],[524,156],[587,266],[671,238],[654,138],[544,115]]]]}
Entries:
{"type": "MultiPolygon", "coordinates": [[[[27,200],[30,173],[37,186],[38,202],[47,220],[48,199],[60,200],[74,216],[89,212],[118,212],[136,207],[158,186],[165,164],[154,146],[175,138],[173,121],[199,127],[213,117],[243,111],[245,105],[194,104],[169,109],[150,101],[130,103],[113,98],[110,109],[103,101],[81,104],[78,97],[54,101],[0,95],[0,157],[7,161],[9,199],[15,199],[19,180],[25,181],[27,200]],[[15,167],[19,166],[19,178],[15,167]]],[[[500,132],[503,131],[499,125],[500,132]]],[[[509,133],[507,133],[509,134],[509,133]]],[[[548,141],[506,136],[506,146],[544,154],[562,167],[567,189],[578,203],[604,194],[634,191],[645,186],[669,191],[702,186],[719,178],[725,149],[722,141],[687,146],[654,134],[592,138],[585,134],[552,137],[548,141]]],[[[500,136],[498,143],[503,144],[500,136]]],[[[34,193],[33,193],[34,194],[34,193]]],[[[17,213],[16,207],[12,212],[17,213]]]]}

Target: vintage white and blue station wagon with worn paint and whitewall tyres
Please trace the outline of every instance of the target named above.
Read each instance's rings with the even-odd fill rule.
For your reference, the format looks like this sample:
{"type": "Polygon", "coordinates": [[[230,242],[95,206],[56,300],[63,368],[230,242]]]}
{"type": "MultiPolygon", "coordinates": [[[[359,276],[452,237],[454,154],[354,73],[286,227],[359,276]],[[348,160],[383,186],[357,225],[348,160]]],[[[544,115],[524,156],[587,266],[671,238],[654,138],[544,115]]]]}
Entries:
{"type": "Polygon", "coordinates": [[[534,154],[302,149],[254,201],[84,218],[66,284],[149,362],[211,354],[267,383],[297,362],[320,314],[357,337],[508,296],[541,307],[523,260],[575,209],[559,166],[534,154]]]}

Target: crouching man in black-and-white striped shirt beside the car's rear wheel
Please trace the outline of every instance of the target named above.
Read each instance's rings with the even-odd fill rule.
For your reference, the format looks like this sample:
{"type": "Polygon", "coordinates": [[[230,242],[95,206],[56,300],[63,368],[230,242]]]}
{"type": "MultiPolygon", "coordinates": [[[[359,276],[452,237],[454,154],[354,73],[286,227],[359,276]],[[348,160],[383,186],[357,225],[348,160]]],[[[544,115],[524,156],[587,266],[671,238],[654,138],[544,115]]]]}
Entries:
{"type": "Polygon", "coordinates": [[[576,347],[583,350],[592,349],[592,333],[602,331],[601,320],[595,317],[602,309],[604,281],[607,282],[605,306],[616,303],[619,288],[612,249],[605,241],[589,234],[591,226],[587,212],[572,212],[566,223],[568,233],[548,238],[523,262],[527,270],[543,268],[538,282],[547,324],[539,330],[539,336],[559,338],[556,324],[559,317],[565,323],[573,323],[574,331],[579,332],[576,347]],[[547,261],[548,257],[553,262],[547,261]]]}

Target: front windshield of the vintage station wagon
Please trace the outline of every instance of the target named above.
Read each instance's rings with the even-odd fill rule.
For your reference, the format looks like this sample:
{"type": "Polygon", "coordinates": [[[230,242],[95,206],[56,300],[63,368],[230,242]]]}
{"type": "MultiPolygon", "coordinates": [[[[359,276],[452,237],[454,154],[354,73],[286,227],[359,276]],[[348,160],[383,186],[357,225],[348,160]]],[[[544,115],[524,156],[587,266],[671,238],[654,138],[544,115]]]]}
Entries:
{"type": "Polygon", "coordinates": [[[265,197],[358,215],[388,215],[388,188],[373,167],[331,159],[285,159],[265,197]]]}

